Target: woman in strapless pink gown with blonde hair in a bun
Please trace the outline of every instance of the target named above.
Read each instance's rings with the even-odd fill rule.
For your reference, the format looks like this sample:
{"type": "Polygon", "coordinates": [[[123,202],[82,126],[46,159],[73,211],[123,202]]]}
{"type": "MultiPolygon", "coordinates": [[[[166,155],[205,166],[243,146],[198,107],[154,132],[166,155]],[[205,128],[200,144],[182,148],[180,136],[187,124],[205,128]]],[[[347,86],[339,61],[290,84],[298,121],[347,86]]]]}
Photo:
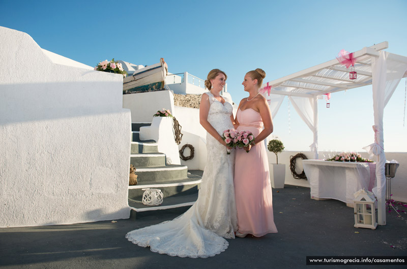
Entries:
{"type": "Polygon", "coordinates": [[[237,237],[246,237],[247,234],[261,237],[277,232],[273,217],[269,161],[264,143],[273,132],[273,121],[266,98],[258,92],[265,77],[266,73],[259,68],[246,74],[242,85],[249,97],[240,101],[235,119],[237,130],[251,131],[255,138],[255,145],[236,150],[234,182],[239,226],[237,237]]]}

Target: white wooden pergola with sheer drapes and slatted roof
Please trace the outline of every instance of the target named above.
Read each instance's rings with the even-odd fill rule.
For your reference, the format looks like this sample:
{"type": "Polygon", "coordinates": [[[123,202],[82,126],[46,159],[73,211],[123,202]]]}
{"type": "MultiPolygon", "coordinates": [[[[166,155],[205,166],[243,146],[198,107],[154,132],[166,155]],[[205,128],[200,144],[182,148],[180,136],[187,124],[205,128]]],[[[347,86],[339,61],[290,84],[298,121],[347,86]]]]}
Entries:
{"type": "Polygon", "coordinates": [[[270,100],[273,117],[277,114],[284,97],[288,96],[301,119],[313,132],[314,139],[310,148],[315,159],[318,158],[318,99],[322,99],[324,94],[372,85],[374,143],[365,149],[377,157],[377,187],[373,191],[378,201],[379,225],[386,224],[383,111],[407,70],[407,57],[384,51],[388,47],[388,42],[382,42],[354,52],[356,58],[354,67],[357,72],[355,80],[349,77],[350,69],[346,69],[337,59],[333,59],[262,85],[264,96],[270,100]],[[267,86],[271,86],[271,89],[267,90],[267,86]]]}

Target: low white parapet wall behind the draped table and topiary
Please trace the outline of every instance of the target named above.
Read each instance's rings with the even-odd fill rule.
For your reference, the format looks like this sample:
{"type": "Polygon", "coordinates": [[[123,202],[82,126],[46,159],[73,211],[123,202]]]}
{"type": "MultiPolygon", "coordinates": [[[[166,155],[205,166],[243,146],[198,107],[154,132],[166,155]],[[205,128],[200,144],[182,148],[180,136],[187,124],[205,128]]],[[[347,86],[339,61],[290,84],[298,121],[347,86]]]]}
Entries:
{"type": "MultiPolygon", "coordinates": [[[[289,168],[289,162],[291,156],[300,153],[299,151],[283,151],[278,154],[278,163],[285,164],[285,184],[309,187],[308,180],[305,179],[295,179],[291,174],[289,168]]],[[[313,154],[309,151],[301,152],[307,156],[308,159],[313,158],[313,154]]],[[[328,152],[326,152],[328,154],[328,152]]],[[[359,152],[363,158],[369,158],[369,154],[359,152]]],[[[319,157],[323,158],[323,151],[318,152],[319,157]]],[[[276,155],[268,151],[269,163],[276,163],[276,155]]],[[[393,193],[392,198],[397,201],[402,201],[407,203],[407,153],[405,152],[386,152],[386,159],[392,160],[395,159],[400,163],[400,166],[397,169],[396,176],[391,179],[391,191],[393,193]]],[[[374,160],[374,159],[373,159],[374,160]]],[[[303,171],[301,159],[296,161],[296,171],[301,173],[303,171]]]]}

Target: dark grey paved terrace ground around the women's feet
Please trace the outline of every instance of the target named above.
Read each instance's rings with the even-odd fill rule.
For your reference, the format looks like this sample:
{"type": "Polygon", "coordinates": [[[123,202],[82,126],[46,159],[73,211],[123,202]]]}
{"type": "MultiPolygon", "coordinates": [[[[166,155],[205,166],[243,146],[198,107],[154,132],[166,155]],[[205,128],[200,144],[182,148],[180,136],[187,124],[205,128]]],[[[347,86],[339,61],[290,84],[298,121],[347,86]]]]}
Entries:
{"type": "MultiPolygon", "coordinates": [[[[170,257],[133,245],[125,234],[170,220],[182,211],[136,221],[1,228],[1,268],[405,268],[403,265],[306,265],[306,256],[401,256],[407,253],[407,215],[387,213],[376,230],[354,228],[353,209],[337,200],[310,199],[309,188],[273,189],[278,233],[228,240],[206,259],[170,257]],[[355,233],[359,232],[359,233],[355,233]],[[395,248],[391,247],[394,246],[395,248]]],[[[405,208],[398,205],[399,209],[405,208]]]]}

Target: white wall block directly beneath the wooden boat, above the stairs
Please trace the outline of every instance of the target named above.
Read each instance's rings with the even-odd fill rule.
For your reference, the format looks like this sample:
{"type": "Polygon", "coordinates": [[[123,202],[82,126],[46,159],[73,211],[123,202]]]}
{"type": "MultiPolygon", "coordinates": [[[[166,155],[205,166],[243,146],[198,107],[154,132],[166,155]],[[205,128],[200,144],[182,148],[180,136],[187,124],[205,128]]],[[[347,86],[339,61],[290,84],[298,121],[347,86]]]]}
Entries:
{"type": "Polygon", "coordinates": [[[173,114],[174,95],[169,90],[124,94],[123,108],[130,109],[131,122],[152,122],[154,114],[163,108],[173,114]]]}

